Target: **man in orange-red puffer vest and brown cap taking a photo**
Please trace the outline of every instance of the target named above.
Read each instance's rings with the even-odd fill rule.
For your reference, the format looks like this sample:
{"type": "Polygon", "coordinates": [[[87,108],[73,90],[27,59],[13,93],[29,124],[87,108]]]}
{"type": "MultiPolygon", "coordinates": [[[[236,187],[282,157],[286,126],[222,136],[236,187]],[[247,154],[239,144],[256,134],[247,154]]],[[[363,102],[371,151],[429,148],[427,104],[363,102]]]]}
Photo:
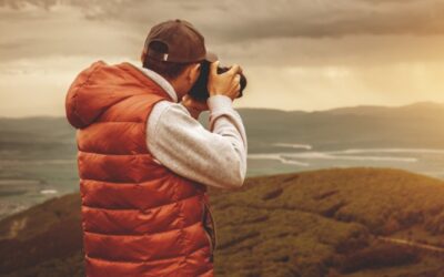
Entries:
{"type": "Polygon", "coordinates": [[[215,224],[206,185],[241,187],[246,136],[232,107],[239,65],[216,73],[202,34],[184,20],[154,25],[143,66],[92,63],[70,85],[88,277],[213,276],[215,224]],[[188,95],[203,60],[206,102],[188,95]],[[209,130],[196,119],[210,111],[209,130]]]}

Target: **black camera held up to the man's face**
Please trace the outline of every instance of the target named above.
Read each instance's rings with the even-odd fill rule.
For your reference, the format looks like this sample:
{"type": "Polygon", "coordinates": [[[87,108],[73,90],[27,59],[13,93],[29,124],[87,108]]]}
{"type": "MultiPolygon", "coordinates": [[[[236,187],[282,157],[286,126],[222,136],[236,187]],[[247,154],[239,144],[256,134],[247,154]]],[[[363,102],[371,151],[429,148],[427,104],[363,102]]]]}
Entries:
{"type": "MultiPolygon", "coordinates": [[[[218,74],[226,72],[229,70],[230,68],[226,66],[218,66],[218,74]]],[[[209,61],[201,62],[201,74],[199,75],[198,81],[195,81],[194,85],[191,88],[189,92],[190,96],[192,96],[198,101],[206,101],[206,99],[210,96],[206,86],[209,74],[210,74],[210,62],[209,61]]],[[[241,75],[241,81],[240,81],[241,90],[238,99],[242,98],[243,95],[242,92],[246,86],[246,78],[243,75],[243,73],[240,73],[240,75],[241,75]]]]}

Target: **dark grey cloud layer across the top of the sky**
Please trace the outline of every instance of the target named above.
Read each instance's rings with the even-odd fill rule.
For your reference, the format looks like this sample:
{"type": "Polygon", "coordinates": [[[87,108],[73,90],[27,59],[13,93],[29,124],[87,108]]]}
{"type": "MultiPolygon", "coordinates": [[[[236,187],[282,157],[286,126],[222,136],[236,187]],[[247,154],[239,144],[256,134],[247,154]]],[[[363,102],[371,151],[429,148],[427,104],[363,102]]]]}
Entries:
{"type": "Polygon", "coordinates": [[[279,47],[273,40],[444,33],[442,1],[275,0],[270,4],[256,0],[254,12],[251,4],[245,0],[0,0],[0,31],[7,34],[0,39],[0,59],[139,53],[150,27],[173,18],[193,22],[206,42],[222,52],[258,43],[279,47]]]}

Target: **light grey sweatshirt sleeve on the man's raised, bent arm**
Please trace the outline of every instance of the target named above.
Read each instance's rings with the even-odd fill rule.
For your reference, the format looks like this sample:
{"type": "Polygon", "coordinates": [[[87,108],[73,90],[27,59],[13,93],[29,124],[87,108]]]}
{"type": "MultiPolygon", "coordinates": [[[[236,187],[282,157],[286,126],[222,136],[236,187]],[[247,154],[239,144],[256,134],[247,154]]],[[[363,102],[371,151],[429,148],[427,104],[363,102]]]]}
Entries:
{"type": "Polygon", "coordinates": [[[232,100],[208,99],[210,131],[180,103],[160,101],[148,120],[148,147],[176,174],[220,188],[241,187],[246,174],[246,135],[232,100]]]}

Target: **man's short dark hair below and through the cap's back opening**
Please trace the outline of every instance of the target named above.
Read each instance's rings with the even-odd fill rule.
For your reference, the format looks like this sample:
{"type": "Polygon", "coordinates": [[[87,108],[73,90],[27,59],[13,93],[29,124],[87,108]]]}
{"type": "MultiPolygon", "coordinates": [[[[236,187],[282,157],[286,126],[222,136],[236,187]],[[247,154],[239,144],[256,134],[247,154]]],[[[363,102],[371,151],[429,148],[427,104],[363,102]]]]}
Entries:
{"type": "MultiPolygon", "coordinates": [[[[168,47],[160,41],[151,42],[148,51],[150,51],[150,49],[160,53],[168,53],[168,47]]],[[[179,62],[159,61],[153,59],[152,57],[149,57],[148,54],[145,55],[145,60],[143,61],[143,68],[150,69],[159,73],[163,78],[170,80],[174,80],[175,78],[178,78],[190,64],[192,64],[192,62],[179,63],[179,62]]]]}

